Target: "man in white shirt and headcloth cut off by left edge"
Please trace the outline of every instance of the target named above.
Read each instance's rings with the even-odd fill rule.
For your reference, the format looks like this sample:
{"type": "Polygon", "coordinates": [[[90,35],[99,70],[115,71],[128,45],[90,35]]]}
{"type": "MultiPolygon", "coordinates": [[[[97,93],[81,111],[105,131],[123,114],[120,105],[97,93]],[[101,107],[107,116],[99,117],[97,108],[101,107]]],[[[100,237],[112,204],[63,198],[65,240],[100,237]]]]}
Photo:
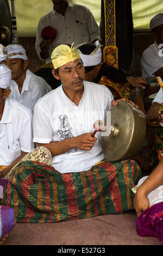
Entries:
{"type": "Polygon", "coordinates": [[[0,178],[34,148],[33,112],[9,96],[11,71],[0,64],[0,178]]]}

